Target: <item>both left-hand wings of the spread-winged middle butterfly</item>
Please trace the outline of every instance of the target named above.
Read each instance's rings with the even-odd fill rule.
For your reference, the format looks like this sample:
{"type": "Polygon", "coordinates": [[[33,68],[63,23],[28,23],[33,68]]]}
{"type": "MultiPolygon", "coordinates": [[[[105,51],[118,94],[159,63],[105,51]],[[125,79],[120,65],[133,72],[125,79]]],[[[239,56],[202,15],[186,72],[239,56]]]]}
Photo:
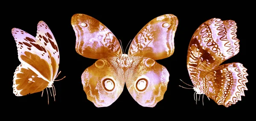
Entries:
{"type": "Polygon", "coordinates": [[[108,107],[121,95],[125,83],[116,61],[122,55],[121,46],[113,33],[93,17],[74,14],[71,24],[76,34],[76,52],[86,58],[100,59],[81,75],[87,99],[96,107],[108,107]]]}

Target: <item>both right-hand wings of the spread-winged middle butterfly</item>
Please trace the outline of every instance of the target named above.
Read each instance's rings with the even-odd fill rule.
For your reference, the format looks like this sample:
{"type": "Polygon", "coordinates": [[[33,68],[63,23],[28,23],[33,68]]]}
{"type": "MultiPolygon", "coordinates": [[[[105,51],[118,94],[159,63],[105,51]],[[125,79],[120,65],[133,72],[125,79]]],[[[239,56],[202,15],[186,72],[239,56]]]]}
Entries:
{"type": "Polygon", "coordinates": [[[156,17],[131,42],[128,56],[132,62],[125,83],[131,96],[143,107],[154,107],[166,92],[169,72],[155,60],[173,54],[177,24],[175,15],[156,17]]]}

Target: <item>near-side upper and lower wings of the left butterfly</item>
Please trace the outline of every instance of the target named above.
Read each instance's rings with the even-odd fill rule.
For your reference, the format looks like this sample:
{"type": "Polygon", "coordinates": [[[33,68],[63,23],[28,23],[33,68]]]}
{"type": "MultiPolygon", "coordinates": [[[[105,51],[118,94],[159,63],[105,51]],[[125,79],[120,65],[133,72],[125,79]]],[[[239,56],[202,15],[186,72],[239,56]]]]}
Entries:
{"type": "Polygon", "coordinates": [[[52,59],[49,49],[41,42],[43,40],[38,40],[17,28],[12,29],[12,35],[16,41],[18,58],[22,63],[17,67],[14,75],[15,95],[22,96],[42,91],[52,82],[52,63],[55,63],[52,60],[55,59],[52,59]]]}

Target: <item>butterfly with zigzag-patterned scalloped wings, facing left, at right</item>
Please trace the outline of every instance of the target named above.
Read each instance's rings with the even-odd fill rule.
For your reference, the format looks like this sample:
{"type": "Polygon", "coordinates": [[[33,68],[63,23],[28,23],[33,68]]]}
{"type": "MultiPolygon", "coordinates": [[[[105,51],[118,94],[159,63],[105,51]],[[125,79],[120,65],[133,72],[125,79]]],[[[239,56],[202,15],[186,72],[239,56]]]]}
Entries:
{"type": "Polygon", "coordinates": [[[207,95],[225,107],[241,101],[247,90],[248,74],[243,64],[220,65],[239,52],[236,32],[233,20],[207,20],[195,31],[187,53],[187,69],[196,95],[207,95]]]}

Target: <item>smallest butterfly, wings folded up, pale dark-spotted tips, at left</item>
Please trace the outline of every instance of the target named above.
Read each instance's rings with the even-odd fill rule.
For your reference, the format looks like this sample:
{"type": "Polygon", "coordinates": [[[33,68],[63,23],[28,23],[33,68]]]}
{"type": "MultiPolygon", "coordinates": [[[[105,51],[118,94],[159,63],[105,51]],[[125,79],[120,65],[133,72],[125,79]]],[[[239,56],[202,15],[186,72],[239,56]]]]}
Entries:
{"type": "Polygon", "coordinates": [[[58,81],[55,78],[58,76],[60,56],[56,40],[47,24],[44,21],[38,23],[36,37],[17,28],[12,29],[12,35],[21,62],[13,76],[13,93],[23,96],[44,92],[48,87],[52,88],[55,96],[53,82],[58,81]]]}

